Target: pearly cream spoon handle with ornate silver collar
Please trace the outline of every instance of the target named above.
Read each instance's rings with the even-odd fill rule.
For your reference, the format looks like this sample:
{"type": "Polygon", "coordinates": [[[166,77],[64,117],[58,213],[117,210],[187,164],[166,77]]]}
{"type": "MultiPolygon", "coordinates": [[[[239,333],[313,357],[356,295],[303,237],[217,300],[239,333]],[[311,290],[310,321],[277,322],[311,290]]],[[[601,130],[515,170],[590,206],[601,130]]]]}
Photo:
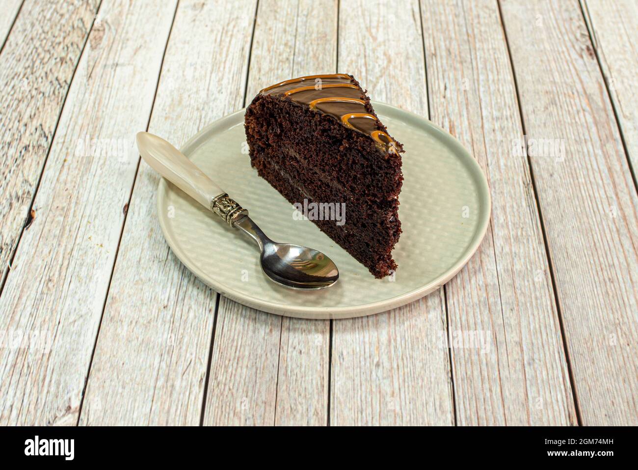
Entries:
{"type": "Polygon", "coordinates": [[[166,140],[149,132],[137,133],[137,148],[144,161],[205,208],[233,225],[248,211],[166,140]]]}

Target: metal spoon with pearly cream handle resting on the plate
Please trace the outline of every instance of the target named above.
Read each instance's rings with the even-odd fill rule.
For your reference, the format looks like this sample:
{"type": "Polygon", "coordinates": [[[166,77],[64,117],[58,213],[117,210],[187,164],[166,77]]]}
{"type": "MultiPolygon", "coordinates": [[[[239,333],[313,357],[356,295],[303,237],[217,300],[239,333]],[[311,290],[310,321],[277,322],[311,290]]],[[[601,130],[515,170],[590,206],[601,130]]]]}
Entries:
{"type": "Polygon", "coordinates": [[[271,280],[292,289],[323,289],[337,282],[339,271],[329,257],[306,246],[275,243],[265,236],[246,209],[166,140],[138,132],[137,148],[152,169],[255,240],[262,252],[262,271],[271,280]]]}

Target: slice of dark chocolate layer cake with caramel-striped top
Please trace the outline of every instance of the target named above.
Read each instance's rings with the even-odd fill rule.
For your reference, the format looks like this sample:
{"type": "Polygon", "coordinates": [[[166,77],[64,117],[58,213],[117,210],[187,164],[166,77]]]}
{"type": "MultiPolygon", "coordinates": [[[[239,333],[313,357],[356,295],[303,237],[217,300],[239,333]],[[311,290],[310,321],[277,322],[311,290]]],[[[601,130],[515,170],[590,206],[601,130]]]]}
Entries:
{"type": "Polygon", "coordinates": [[[246,109],[245,127],[259,176],[297,208],[345,208],[339,220],[316,210],[304,215],[375,277],[397,268],[392,248],[401,234],[403,147],[352,75],[311,75],[264,88],[246,109]]]}

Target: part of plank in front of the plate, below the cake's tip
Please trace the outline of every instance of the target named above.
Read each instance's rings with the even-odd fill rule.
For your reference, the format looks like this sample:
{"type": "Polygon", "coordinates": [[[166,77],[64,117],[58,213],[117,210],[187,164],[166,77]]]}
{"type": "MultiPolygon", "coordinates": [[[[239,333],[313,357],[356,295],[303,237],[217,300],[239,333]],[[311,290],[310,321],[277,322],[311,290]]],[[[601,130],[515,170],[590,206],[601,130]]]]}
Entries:
{"type": "Polygon", "coordinates": [[[330,424],[453,425],[443,289],[383,314],[334,321],[330,424]]]}

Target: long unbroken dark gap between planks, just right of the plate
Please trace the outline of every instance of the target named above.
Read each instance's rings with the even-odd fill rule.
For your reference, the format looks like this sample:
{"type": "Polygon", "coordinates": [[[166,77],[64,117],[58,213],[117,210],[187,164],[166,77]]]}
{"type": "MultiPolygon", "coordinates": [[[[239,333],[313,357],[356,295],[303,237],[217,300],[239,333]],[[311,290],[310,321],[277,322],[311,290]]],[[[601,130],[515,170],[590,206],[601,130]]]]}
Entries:
{"type": "MultiPolygon", "coordinates": [[[[501,29],[503,30],[503,37],[505,38],[505,45],[507,46],[507,56],[510,59],[510,67],[512,68],[512,79],[514,79],[514,89],[516,90],[516,103],[519,109],[519,117],[521,117],[521,128],[523,129],[523,135],[527,135],[525,119],[523,116],[523,109],[521,107],[521,95],[519,92],[519,84],[516,79],[516,70],[514,68],[514,60],[512,59],[512,50],[510,49],[510,43],[507,38],[507,31],[505,29],[505,21],[503,20],[503,11],[501,9],[501,1],[496,0],[496,4],[498,5],[498,16],[501,23],[501,29]]],[[[527,142],[525,142],[527,144],[527,142]]],[[[565,362],[567,363],[567,372],[569,375],[569,381],[572,388],[572,397],[574,398],[574,408],[576,411],[576,420],[579,426],[582,426],[582,418],[581,418],[581,409],[578,401],[578,395],[575,386],[574,380],[574,372],[572,371],[572,363],[570,360],[569,349],[567,347],[567,340],[565,339],[565,326],[563,326],[563,315],[561,314],[560,301],[558,298],[558,291],[556,290],[556,278],[554,277],[554,266],[552,263],[552,257],[549,252],[549,243],[547,241],[547,232],[545,231],[545,222],[543,218],[542,209],[540,207],[540,201],[538,199],[538,190],[536,186],[536,179],[534,178],[534,170],[531,165],[531,158],[529,152],[526,152],[527,155],[527,164],[530,168],[530,179],[532,191],[534,193],[534,199],[536,201],[536,207],[538,210],[538,218],[540,220],[540,230],[543,234],[543,243],[545,245],[545,254],[547,255],[547,264],[549,264],[549,277],[552,281],[552,290],[554,293],[554,303],[556,303],[556,314],[558,315],[558,324],[560,325],[560,333],[561,333],[561,341],[563,342],[563,349],[565,351],[565,362]]]]}

